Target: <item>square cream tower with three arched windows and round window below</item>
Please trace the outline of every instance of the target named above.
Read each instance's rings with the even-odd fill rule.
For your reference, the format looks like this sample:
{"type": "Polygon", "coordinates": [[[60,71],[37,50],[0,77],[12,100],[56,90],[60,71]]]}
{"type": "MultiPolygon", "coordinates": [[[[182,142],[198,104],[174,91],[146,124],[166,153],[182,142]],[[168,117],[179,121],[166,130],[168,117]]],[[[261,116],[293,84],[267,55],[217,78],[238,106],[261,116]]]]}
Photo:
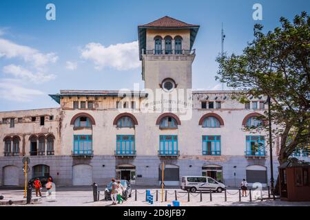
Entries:
{"type": "Polygon", "coordinates": [[[142,78],[146,89],[192,89],[194,41],[199,25],[163,17],[138,26],[142,78]]]}

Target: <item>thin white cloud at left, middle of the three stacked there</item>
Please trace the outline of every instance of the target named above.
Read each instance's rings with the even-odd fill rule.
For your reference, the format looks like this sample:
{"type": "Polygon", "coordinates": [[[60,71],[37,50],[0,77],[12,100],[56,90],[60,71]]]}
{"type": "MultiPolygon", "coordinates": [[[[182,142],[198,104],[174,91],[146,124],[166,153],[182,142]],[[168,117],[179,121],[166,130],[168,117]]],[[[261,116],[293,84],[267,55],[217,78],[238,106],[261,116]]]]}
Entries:
{"type": "Polygon", "coordinates": [[[34,74],[20,65],[13,64],[3,67],[3,73],[11,74],[15,78],[21,78],[36,84],[45,83],[56,78],[53,74],[44,74],[42,72],[34,74]]]}

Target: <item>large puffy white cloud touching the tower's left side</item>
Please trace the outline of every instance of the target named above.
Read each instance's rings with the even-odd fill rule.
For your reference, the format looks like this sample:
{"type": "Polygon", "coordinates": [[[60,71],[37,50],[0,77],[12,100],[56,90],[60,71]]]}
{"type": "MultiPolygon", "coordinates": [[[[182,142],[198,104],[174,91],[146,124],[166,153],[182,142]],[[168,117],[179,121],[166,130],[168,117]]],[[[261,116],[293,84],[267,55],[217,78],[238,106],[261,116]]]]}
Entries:
{"type": "Polygon", "coordinates": [[[112,67],[127,70],[136,69],[141,65],[138,59],[138,41],[118,43],[108,47],[101,43],[88,43],[81,50],[81,57],[93,61],[95,69],[112,67]]]}

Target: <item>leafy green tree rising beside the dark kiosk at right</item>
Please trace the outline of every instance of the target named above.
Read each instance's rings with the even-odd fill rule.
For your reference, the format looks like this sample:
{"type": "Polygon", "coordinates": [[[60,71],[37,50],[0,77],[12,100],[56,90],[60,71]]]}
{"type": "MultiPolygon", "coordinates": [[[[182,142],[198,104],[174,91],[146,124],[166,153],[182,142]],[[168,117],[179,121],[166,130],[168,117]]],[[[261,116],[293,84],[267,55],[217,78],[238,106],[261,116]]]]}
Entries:
{"type": "MultiPolygon", "coordinates": [[[[218,56],[216,79],[238,90],[235,98],[240,102],[249,96],[271,98],[273,136],[281,137],[278,160],[282,164],[296,148],[309,146],[310,18],[302,12],[293,22],[281,17],[280,23],[267,33],[256,24],[254,40],[240,56],[218,56]]],[[[260,128],[269,129],[268,123],[260,128]]]]}

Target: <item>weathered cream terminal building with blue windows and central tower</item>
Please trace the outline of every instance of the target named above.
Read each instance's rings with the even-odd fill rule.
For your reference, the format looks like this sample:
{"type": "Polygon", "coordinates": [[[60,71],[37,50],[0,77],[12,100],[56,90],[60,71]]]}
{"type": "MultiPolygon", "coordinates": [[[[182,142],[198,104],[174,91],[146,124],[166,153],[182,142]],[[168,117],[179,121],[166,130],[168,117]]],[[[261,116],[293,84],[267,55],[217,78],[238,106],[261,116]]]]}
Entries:
{"type": "MultiPolygon", "coordinates": [[[[170,17],[138,26],[143,91],[61,90],[50,95],[58,108],[0,112],[0,186],[24,185],[24,156],[29,178],[50,175],[56,186],[112,177],[158,186],[162,162],[166,186],[185,175],[268,185],[267,133],[244,129],[260,123],[266,98],[241,104],[234,91],[192,91],[198,30],[170,17]]],[[[276,178],[279,138],[273,146],[276,178]]]]}

